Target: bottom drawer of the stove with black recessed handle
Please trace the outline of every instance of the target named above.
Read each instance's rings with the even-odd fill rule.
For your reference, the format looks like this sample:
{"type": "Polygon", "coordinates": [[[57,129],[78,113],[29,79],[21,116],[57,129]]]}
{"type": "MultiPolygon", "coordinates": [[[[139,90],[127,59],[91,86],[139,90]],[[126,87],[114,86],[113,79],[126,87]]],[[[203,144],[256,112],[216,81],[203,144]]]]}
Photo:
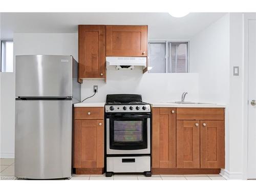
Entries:
{"type": "Polygon", "coordinates": [[[140,173],[149,172],[150,156],[143,157],[107,157],[106,171],[114,173],[140,173]]]}

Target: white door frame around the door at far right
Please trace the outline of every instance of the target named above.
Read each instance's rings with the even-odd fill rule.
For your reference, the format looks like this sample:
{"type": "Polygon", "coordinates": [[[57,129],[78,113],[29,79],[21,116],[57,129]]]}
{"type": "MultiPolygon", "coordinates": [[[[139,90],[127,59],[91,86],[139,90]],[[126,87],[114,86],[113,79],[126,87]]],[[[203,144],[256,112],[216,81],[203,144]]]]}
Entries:
{"type": "Polygon", "coordinates": [[[256,13],[243,14],[243,62],[244,62],[244,94],[243,94],[243,159],[242,159],[242,179],[247,179],[248,169],[248,20],[256,20],[256,13]]]}

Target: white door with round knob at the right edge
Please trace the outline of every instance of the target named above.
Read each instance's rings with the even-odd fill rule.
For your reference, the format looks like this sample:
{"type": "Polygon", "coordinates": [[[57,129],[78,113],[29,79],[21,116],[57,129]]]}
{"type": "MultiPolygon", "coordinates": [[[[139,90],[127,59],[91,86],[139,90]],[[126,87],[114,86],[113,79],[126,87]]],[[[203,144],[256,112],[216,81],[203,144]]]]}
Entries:
{"type": "Polygon", "coordinates": [[[248,179],[256,178],[256,20],[248,20],[248,179]],[[255,100],[255,103],[254,103],[255,100]]]}

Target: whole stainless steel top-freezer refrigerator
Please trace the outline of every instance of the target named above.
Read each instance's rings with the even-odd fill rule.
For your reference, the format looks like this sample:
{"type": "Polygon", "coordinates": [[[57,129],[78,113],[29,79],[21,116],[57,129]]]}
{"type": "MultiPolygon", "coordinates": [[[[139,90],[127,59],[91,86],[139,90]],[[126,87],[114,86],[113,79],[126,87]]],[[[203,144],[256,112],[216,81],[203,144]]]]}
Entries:
{"type": "Polygon", "coordinates": [[[78,63],[72,56],[20,55],[15,73],[15,177],[71,177],[78,63]]]}

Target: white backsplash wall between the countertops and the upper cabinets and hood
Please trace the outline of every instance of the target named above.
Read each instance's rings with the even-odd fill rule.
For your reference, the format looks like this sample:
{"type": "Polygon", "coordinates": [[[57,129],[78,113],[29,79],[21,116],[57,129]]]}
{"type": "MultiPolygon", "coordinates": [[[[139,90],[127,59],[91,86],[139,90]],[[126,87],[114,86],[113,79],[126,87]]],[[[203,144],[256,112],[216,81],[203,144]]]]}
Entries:
{"type": "Polygon", "coordinates": [[[181,94],[188,92],[186,100],[198,101],[198,74],[173,73],[157,74],[141,71],[106,71],[106,83],[102,80],[84,80],[81,99],[93,95],[93,86],[98,85],[98,93],[88,102],[105,101],[106,94],[141,94],[143,101],[178,101],[181,94]]]}

